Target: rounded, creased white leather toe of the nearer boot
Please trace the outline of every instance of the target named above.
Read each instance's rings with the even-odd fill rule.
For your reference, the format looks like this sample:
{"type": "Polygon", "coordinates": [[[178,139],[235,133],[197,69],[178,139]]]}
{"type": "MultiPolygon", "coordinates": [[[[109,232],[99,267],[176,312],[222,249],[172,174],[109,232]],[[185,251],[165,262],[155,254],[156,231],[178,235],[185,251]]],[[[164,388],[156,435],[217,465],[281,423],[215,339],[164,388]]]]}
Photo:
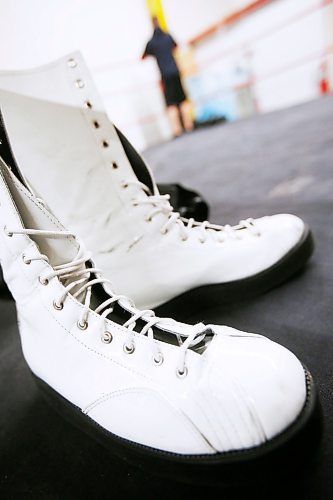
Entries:
{"type": "Polygon", "coordinates": [[[263,337],[220,336],[213,344],[200,393],[214,448],[251,448],[287,429],[306,401],[298,359],[263,337]]]}

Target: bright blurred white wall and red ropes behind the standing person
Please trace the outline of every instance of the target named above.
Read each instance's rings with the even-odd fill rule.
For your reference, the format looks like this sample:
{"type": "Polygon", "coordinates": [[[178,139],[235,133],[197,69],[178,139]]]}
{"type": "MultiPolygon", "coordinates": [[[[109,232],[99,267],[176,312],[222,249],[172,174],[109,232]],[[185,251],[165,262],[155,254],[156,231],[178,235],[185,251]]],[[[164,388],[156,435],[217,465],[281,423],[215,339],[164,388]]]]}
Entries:
{"type": "Polygon", "coordinates": [[[333,87],[333,0],[0,0],[0,9],[0,69],[81,50],[110,118],[139,150],[172,137],[156,62],[141,60],[152,16],[178,43],[198,124],[333,87]]]}

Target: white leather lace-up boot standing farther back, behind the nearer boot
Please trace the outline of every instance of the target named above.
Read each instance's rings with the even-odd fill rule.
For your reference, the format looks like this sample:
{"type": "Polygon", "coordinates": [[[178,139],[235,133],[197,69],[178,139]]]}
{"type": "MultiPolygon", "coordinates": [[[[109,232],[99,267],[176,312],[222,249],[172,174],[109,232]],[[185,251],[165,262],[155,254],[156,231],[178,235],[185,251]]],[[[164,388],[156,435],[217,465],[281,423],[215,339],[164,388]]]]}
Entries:
{"type": "Polygon", "coordinates": [[[109,121],[80,54],[2,72],[0,88],[22,177],[138,306],[163,304],[159,313],[186,318],[191,309],[276,286],[311,255],[311,233],[294,215],[221,227],[173,212],[109,121]]]}

